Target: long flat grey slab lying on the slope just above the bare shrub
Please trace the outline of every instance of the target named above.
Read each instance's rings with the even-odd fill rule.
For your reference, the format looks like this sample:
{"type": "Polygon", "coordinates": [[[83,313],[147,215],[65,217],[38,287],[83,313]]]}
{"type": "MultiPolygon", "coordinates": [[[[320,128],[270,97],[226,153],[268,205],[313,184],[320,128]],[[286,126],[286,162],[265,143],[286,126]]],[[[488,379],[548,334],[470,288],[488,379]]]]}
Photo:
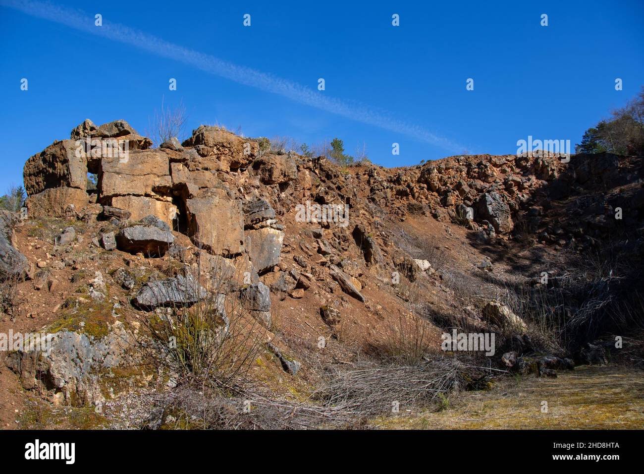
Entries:
{"type": "Polygon", "coordinates": [[[132,304],[142,310],[153,310],[160,306],[184,308],[205,299],[206,296],[206,290],[192,277],[177,275],[144,284],[132,299],[132,304]]]}

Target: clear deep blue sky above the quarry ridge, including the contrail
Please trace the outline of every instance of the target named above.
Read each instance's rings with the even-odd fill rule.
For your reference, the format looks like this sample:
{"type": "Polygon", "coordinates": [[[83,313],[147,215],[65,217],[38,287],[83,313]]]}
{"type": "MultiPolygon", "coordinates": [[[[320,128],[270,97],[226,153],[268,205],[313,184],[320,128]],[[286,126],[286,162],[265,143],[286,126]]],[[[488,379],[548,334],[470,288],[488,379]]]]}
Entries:
{"type": "Polygon", "coordinates": [[[0,192],[86,118],[146,132],[162,98],[184,104],[187,133],[339,137],[406,166],[515,153],[527,135],[578,143],[644,85],[639,0],[15,4],[0,0],[0,192]]]}

